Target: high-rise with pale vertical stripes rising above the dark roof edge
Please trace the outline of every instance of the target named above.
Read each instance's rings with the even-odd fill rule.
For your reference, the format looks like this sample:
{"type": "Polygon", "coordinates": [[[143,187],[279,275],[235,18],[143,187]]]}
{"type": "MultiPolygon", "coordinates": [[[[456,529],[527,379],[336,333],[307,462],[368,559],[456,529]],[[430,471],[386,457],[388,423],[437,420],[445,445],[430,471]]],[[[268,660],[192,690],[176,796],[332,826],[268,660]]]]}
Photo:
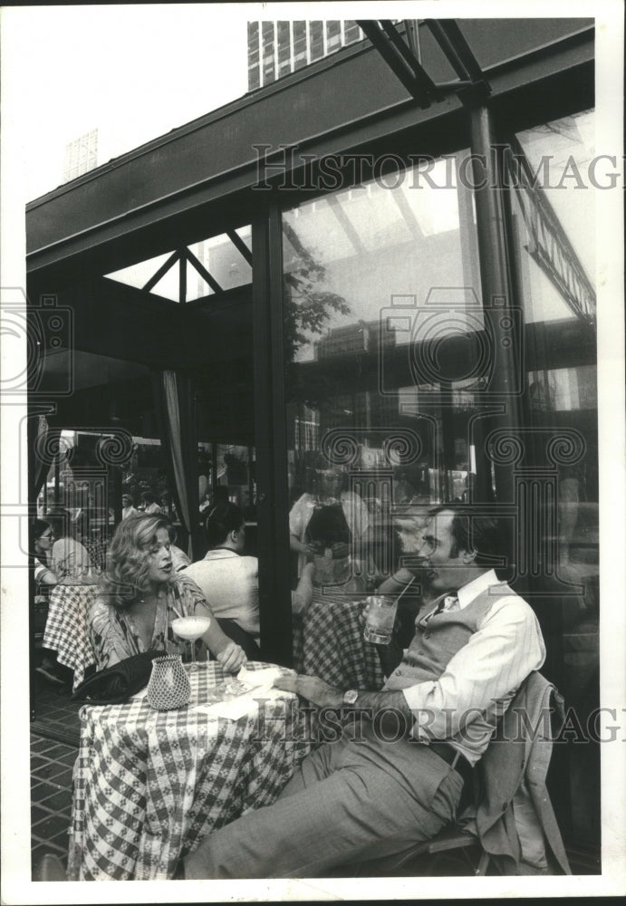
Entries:
{"type": "Polygon", "coordinates": [[[364,35],[355,22],[248,22],[248,91],[321,60],[364,35]]]}

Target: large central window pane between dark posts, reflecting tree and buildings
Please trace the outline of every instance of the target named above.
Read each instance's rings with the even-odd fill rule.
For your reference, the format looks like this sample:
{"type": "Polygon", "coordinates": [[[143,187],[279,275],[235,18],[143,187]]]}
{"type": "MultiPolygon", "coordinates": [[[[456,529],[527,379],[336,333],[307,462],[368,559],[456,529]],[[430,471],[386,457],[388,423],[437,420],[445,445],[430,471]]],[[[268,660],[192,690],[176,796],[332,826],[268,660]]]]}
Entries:
{"type": "MultiPolygon", "coordinates": [[[[456,169],[454,158],[437,162],[441,181],[447,169],[456,169]]],[[[476,381],[454,369],[422,373],[414,355],[429,340],[420,331],[431,303],[452,361],[455,344],[484,329],[471,196],[452,180],[438,202],[421,185],[407,169],[283,217],[292,522],[307,500],[348,501],[356,545],[354,513],[369,521],[367,550],[351,554],[361,588],[397,563],[397,507],[468,500],[476,486],[476,381]],[[393,438],[406,446],[394,452],[393,438]],[[337,479],[331,490],[328,473],[337,479]]]]}

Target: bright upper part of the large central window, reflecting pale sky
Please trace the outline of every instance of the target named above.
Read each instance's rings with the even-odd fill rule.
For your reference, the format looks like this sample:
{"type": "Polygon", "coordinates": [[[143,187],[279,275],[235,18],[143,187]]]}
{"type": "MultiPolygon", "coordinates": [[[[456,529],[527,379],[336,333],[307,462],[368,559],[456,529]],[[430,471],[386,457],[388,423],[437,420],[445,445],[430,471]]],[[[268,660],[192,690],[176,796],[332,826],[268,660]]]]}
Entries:
{"type": "MultiPolygon", "coordinates": [[[[447,166],[444,160],[438,162],[438,176],[443,178],[447,166]]],[[[361,321],[379,323],[385,310],[390,320],[382,326],[395,334],[394,345],[411,342],[413,322],[408,331],[401,329],[407,321],[406,305],[400,299],[397,316],[385,306],[392,296],[398,301],[403,295],[406,304],[412,296],[422,304],[431,290],[439,302],[444,295],[448,301],[454,296],[458,317],[442,322],[441,329],[460,333],[482,327],[476,268],[472,275],[464,266],[464,256],[477,260],[474,230],[468,223],[462,248],[457,199],[454,186],[422,188],[417,173],[408,171],[399,188],[371,182],[285,212],[284,269],[299,281],[294,300],[304,298],[307,284],[300,272],[313,263],[316,287],[345,300],[345,311],[332,313],[333,329],[355,323],[355,313],[361,321]],[[444,197],[438,214],[436,192],[444,197]]],[[[297,361],[314,358],[313,337],[310,340],[299,344],[297,361]]]]}

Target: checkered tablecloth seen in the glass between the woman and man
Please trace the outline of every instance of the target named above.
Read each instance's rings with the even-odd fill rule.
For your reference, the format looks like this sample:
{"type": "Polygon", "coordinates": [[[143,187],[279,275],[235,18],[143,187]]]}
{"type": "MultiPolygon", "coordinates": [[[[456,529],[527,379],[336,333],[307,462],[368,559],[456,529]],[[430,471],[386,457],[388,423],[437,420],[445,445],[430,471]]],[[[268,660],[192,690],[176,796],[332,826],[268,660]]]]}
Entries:
{"type": "Polygon", "coordinates": [[[294,668],[339,689],[382,688],[383,673],[374,645],[363,639],[361,601],[316,588],[303,614],[294,614],[294,668]]]}

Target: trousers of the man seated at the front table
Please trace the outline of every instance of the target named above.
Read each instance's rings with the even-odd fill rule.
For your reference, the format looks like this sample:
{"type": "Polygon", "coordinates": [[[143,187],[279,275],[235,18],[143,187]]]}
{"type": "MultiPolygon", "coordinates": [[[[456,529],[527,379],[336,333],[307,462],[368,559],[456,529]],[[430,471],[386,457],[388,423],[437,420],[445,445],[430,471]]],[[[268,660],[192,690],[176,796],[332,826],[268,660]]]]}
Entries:
{"type": "Polygon", "coordinates": [[[365,729],[303,759],[274,805],[237,818],[188,856],[187,878],[307,878],[409,852],[454,820],[463,781],[419,743],[365,729]]]}

